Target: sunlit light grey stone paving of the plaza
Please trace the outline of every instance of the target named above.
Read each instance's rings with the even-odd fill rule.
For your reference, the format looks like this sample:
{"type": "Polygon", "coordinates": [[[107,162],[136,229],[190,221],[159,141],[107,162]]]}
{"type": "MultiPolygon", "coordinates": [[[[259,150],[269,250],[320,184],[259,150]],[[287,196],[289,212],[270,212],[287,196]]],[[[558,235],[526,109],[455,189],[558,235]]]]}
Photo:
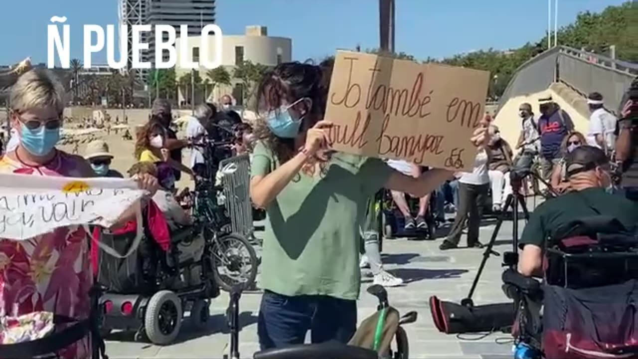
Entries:
{"type": "MultiPolygon", "coordinates": [[[[531,206],[530,206],[531,207],[531,206]]],[[[482,243],[487,244],[494,231],[496,220],[487,218],[480,229],[482,243]]],[[[524,221],[521,220],[519,231],[524,221]]],[[[441,229],[443,233],[447,229],[441,229]]],[[[494,249],[497,252],[512,248],[512,222],[501,227],[494,249]]],[[[410,358],[511,358],[512,340],[504,333],[483,335],[446,335],[434,328],[429,311],[428,298],[437,295],[443,300],[458,302],[470,289],[484,250],[459,248],[441,252],[436,241],[412,241],[406,239],[383,242],[383,263],[394,275],[403,278],[402,287],[389,288],[390,304],[399,312],[416,310],[419,319],[406,325],[410,339],[410,358]]],[[[461,240],[464,245],[464,238],[461,240]]],[[[475,303],[485,304],[507,300],[501,292],[502,257],[490,257],[474,295],[475,303]]],[[[364,270],[364,273],[368,273],[364,270]]],[[[359,320],[376,310],[376,298],[365,289],[371,277],[364,277],[359,300],[359,320]]],[[[240,353],[242,358],[252,358],[258,350],[257,313],[261,293],[244,293],[241,298],[240,353]]],[[[195,332],[184,322],[177,341],[170,346],[154,346],[147,342],[133,342],[132,333],[113,333],[107,338],[107,354],[110,358],[221,358],[228,343],[225,310],[228,295],[222,293],[211,303],[212,320],[204,332],[195,332]]]]}

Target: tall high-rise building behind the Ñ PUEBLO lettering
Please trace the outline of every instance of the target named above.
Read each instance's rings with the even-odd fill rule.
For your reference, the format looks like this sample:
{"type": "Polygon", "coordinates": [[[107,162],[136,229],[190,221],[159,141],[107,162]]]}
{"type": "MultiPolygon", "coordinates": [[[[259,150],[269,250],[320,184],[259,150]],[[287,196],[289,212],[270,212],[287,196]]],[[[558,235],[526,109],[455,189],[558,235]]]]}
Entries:
{"type": "MultiPolygon", "coordinates": [[[[118,0],[120,24],[129,25],[128,58],[131,52],[130,26],[135,24],[151,25],[151,33],[142,33],[142,42],[149,43],[149,50],[142,53],[142,61],[155,63],[155,25],[170,25],[175,27],[177,37],[181,25],[188,25],[188,35],[196,36],[202,33],[202,27],[215,23],[215,0],[118,0]]],[[[167,34],[164,34],[167,40],[167,34]]],[[[164,54],[164,59],[168,54],[164,54]]],[[[129,62],[130,63],[130,62],[129,62]]]]}

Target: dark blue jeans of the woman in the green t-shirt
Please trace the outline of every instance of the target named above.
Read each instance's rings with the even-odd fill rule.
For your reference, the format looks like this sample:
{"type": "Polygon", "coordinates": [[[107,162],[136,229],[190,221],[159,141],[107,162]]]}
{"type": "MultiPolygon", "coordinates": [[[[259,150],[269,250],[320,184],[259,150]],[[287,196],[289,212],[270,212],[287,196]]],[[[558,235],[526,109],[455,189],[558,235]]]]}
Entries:
{"type": "Polygon", "coordinates": [[[262,350],[303,344],[310,330],[313,343],[346,344],[357,330],[357,302],[331,296],[285,296],[265,290],[257,319],[262,350]]]}

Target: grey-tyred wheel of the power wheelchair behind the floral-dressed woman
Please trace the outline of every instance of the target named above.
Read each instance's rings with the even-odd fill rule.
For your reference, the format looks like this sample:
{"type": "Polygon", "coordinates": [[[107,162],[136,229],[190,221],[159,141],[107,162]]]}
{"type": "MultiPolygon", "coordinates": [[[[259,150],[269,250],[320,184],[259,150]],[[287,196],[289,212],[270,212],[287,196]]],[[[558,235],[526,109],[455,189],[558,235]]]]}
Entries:
{"type": "Polygon", "coordinates": [[[182,326],[182,301],[172,291],[153,294],[144,313],[146,336],[153,344],[170,344],[182,326]]]}

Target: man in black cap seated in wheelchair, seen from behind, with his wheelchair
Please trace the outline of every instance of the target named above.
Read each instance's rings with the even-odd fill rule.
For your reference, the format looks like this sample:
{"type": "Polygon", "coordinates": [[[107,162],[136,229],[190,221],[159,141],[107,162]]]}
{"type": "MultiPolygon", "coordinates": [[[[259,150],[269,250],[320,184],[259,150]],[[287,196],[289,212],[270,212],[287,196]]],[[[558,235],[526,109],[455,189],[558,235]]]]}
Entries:
{"type": "Polygon", "coordinates": [[[576,148],[565,167],[571,192],[531,214],[518,272],[503,273],[517,308],[515,357],[635,357],[638,208],[605,191],[611,168],[602,149],[576,148]]]}

